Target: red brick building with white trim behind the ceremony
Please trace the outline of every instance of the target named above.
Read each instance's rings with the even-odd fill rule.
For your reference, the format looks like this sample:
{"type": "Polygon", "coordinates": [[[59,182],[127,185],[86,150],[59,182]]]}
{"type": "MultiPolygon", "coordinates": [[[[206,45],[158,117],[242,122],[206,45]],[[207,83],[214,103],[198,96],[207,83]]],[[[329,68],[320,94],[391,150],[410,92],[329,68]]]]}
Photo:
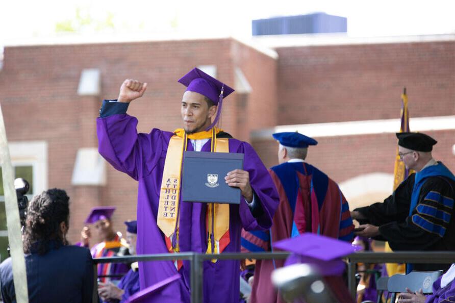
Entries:
{"type": "Polygon", "coordinates": [[[390,193],[403,86],[411,130],[434,136],[435,158],[455,170],[455,35],[7,46],[0,102],[13,165],[33,193],[67,190],[71,241],[93,206],[116,206],[120,231],[135,218],[136,182],[96,153],[101,100],[115,98],[125,78],[146,81],[129,109],[138,130],[174,130],[184,91],[176,80],[194,66],[236,89],[223,106],[224,130],[251,142],[267,166],[277,164],[272,132],[314,136],[319,145],[307,160],[340,183],[351,204],[390,193]]]}

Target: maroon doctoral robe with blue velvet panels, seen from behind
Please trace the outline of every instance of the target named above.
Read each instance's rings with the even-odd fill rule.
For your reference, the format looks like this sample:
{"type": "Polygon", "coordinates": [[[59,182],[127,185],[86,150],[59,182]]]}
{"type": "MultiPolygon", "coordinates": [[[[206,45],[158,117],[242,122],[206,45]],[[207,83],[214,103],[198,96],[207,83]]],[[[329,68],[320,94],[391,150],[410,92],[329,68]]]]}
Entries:
{"type": "MultiPolygon", "coordinates": [[[[242,251],[268,251],[271,242],[305,232],[351,241],[353,224],[349,205],[338,185],[305,162],[286,162],[270,169],[280,195],[280,205],[270,232],[242,232],[242,251]],[[313,207],[312,207],[313,206],[313,207]],[[314,211],[313,211],[314,210],[314,211]]],[[[282,302],[270,281],[284,260],[257,260],[251,302],[282,302]]]]}

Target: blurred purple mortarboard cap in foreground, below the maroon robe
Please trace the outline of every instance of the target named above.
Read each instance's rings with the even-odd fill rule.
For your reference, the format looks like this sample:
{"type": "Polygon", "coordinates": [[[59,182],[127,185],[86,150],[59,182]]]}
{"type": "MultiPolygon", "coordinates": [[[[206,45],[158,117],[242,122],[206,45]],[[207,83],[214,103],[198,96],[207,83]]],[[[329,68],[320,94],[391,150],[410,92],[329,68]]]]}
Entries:
{"type": "Polygon", "coordinates": [[[273,247],[294,253],[285,265],[311,263],[316,265],[322,275],[341,274],[345,265],[340,258],[357,250],[357,247],[352,246],[349,242],[313,233],[304,233],[295,238],[276,242],[273,247]]]}

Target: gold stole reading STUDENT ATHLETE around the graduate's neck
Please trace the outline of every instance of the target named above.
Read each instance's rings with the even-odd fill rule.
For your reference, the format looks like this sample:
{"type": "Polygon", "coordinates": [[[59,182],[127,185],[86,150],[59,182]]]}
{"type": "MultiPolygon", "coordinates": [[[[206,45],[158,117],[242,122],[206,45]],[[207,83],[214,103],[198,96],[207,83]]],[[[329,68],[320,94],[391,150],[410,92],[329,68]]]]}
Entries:
{"type": "MultiPolygon", "coordinates": [[[[174,132],[175,135],[172,136],[169,141],[164,163],[163,179],[161,180],[157,216],[157,224],[166,236],[166,246],[169,252],[178,253],[180,251],[179,203],[182,179],[181,169],[183,152],[187,148],[187,141],[188,139],[197,140],[211,138],[211,152],[229,153],[228,139],[216,138],[216,135],[221,131],[221,129],[213,128],[210,131],[187,135],[183,129],[178,129],[174,132]]],[[[212,252],[214,254],[221,253],[227,244],[230,243],[229,204],[210,203],[208,205],[206,228],[208,235],[207,254],[211,254],[212,252]],[[212,237],[214,241],[212,241],[212,237]]],[[[216,262],[216,260],[212,260],[212,262],[216,262]]],[[[179,265],[181,266],[181,262],[179,265]]],[[[178,269],[180,266],[177,266],[178,269]]]]}

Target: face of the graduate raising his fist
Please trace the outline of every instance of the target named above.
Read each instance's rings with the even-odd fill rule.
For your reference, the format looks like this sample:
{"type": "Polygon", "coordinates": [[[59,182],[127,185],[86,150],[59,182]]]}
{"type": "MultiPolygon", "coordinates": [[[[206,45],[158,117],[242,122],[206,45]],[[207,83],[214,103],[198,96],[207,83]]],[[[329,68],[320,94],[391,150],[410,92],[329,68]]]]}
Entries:
{"type": "Polygon", "coordinates": [[[183,128],[188,134],[205,131],[215,112],[216,106],[209,108],[203,95],[189,90],[183,94],[181,113],[183,128]]]}

